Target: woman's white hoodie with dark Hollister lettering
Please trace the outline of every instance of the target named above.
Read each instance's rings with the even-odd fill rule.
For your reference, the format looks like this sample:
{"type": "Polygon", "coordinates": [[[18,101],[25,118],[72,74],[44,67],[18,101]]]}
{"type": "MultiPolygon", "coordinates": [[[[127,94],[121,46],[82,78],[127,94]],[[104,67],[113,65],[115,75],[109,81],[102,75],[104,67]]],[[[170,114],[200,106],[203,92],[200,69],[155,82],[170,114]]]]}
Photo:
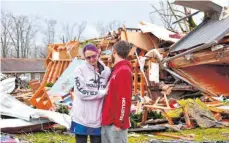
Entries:
{"type": "Polygon", "coordinates": [[[86,127],[101,127],[101,110],[105,96],[104,89],[110,75],[110,69],[101,61],[101,74],[89,63],[75,69],[75,85],[72,108],[72,120],[86,127]]]}

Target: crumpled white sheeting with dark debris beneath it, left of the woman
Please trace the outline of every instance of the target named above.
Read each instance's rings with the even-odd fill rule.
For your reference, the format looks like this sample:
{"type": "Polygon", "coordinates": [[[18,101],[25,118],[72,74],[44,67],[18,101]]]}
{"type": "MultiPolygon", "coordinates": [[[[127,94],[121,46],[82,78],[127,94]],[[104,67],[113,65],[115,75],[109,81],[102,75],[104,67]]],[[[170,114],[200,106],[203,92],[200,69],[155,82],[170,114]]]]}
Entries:
{"type": "Polygon", "coordinates": [[[15,99],[15,97],[2,94],[0,105],[1,132],[24,133],[41,129],[48,129],[54,123],[70,128],[71,117],[54,111],[33,109],[15,99]]]}

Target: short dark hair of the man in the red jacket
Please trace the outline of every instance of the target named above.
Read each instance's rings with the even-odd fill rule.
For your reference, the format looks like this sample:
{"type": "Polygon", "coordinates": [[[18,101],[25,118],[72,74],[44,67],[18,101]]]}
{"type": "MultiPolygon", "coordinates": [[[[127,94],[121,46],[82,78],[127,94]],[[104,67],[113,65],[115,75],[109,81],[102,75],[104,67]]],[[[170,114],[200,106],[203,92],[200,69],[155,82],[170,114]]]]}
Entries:
{"type": "Polygon", "coordinates": [[[127,41],[121,40],[115,43],[113,47],[121,58],[126,59],[130,52],[131,44],[127,41]]]}

